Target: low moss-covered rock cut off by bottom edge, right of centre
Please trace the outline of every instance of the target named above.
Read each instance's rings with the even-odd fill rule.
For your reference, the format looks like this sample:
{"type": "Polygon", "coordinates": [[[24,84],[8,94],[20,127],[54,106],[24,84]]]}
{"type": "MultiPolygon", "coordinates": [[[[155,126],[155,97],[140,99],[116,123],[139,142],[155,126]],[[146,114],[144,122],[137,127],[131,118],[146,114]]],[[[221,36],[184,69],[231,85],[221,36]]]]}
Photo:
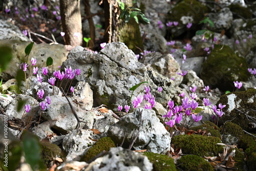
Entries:
{"type": "Polygon", "coordinates": [[[213,171],[214,168],[202,157],[196,155],[182,156],[177,160],[178,168],[189,171],[213,171]]]}

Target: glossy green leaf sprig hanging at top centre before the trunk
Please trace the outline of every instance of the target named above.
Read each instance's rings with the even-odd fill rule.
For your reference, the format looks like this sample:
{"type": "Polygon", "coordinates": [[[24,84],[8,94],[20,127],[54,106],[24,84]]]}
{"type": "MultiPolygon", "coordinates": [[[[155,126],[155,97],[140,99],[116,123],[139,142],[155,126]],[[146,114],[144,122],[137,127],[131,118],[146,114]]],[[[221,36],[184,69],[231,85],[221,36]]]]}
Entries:
{"type": "Polygon", "coordinates": [[[128,23],[130,18],[134,18],[136,23],[139,24],[139,19],[138,19],[138,16],[139,16],[143,20],[143,22],[150,24],[150,20],[148,20],[145,17],[145,15],[141,12],[141,10],[139,8],[133,7],[137,1],[133,1],[132,7],[125,7],[123,2],[120,2],[120,1],[117,1],[117,2],[121,9],[120,19],[123,19],[125,23],[128,23]]]}

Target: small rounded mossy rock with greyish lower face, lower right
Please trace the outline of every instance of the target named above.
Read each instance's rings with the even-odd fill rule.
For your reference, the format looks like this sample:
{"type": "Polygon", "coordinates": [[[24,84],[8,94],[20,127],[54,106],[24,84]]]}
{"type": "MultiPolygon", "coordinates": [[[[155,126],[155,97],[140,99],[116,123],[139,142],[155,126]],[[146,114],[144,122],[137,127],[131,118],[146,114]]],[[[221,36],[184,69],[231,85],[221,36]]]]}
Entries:
{"type": "Polygon", "coordinates": [[[244,132],[241,126],[230,121],[224,124],[222,134],[222,141],[232,145],[238,142],[239,138],[244,135],[244,132]]]}

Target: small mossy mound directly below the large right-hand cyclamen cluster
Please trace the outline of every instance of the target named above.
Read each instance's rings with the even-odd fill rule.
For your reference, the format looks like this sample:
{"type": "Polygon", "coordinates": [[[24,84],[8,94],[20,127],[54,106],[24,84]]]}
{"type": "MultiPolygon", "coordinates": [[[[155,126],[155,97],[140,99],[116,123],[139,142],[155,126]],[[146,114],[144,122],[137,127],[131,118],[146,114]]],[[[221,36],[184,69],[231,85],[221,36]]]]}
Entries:
{"type": "Polygon", "coordinates": [[[216,124],[214,124],[210,121],[205,121],[204,124],[201,124],[201,125],[195,126],[195,127],[191,127],[190,130],[206,131],[206,133],[204,134],[205,136],[208,136],[210,134],[211,136],[219,137],[221,139],[221,133],[218,130],[216,130],[215,128],[218,129],[218,126],[216,126],[216,124]]]}

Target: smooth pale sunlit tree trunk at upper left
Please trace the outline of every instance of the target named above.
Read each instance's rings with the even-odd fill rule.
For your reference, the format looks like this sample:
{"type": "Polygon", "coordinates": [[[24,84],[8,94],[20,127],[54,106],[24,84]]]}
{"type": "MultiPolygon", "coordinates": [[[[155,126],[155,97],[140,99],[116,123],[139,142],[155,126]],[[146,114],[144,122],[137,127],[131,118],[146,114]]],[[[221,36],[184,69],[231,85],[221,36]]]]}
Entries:
{"type": "Polygon", "coordinates": [[[80,0],[60,0],[60,16],[62,29],[65,32],[65,44],[82,45],[82,22],[80,0]],[[76,36],[74,36],[74,34],[76,36]]]}

